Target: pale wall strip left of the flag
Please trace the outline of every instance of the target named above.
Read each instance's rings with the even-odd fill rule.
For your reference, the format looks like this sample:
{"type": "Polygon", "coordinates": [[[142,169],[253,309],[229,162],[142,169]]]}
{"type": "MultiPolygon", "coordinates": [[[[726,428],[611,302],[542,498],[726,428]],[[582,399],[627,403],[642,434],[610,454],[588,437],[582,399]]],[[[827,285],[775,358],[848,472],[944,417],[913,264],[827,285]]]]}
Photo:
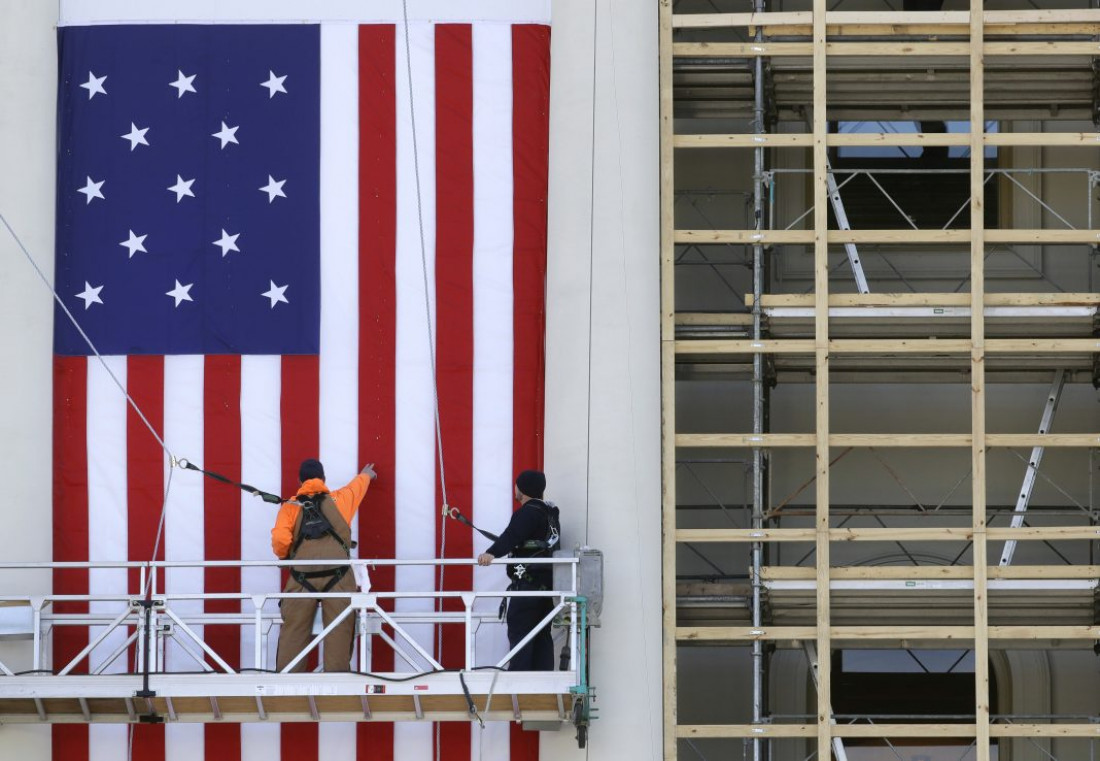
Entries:
{"type": "MultiPolygon", "coordinates": [[[[0,0],[0,214],[52,277],[54,261],[54,123],[57,4],[0,0]]],[[[0,561],[48,560],[51,551],[52,300],[0,224],[0,462],[4,499],[0,561]],[[31,505],[34,522],[25,520],[31,505]],[[38,520],[37,518],[41,518],[38,520]]],[[[47,592],[48,574],[0,576],[0,593],[47,592]],[[18,584],[19,588],[15,588],[18,584]]],[[[0,658],[29,668],[25,643],[0,643],[0,658]]],[[[50,758],[47,727],[0,727],[0,759],[50,758]]]]}

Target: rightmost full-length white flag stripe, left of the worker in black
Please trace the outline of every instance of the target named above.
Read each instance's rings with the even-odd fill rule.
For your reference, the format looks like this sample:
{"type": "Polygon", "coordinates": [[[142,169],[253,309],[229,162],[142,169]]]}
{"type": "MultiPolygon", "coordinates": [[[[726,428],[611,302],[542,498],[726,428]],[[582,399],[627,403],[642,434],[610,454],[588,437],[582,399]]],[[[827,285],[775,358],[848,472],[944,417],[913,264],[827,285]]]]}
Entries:
{"type": "MultiPolygon", "coordinates": [[[[474,523],[499,532],[512,515],[512,27],[473,27],[474,152],[474,523]]],[[[474,551],[488,540],[474,534],[474,551]]],[[[499,569],[474,571],[474,589],[501,589],[499,569]]],[[[479,600],[494,613],[498,602],[479,600]]],[[[477,632],[476,663],[495,663],[507,652],[501,625],[477,632]]],[[[491,721],[472,732],[472,759],[508,756],[508,724],[491,721]]]]}

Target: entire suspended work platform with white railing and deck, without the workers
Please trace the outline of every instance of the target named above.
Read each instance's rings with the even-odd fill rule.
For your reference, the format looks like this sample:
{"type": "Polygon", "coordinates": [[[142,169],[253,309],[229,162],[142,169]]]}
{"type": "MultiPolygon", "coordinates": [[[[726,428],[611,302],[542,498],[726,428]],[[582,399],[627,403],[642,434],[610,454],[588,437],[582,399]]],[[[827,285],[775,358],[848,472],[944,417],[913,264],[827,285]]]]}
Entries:
{"type": "MultiPolygon", "coordinates": [[[[526,559],[556,566],[560,588],[539,592],[380,592],[370,586],[374,566],[438,571],[474,561],[349,561],[365,592],[351,595],[327,627],[315,624],[312,640],[282,672],[274,670],[280,600],[348,599],[346,593],[142,591],[163,589],[165,577],[184,577],[184,571],[201,578],[205,570],[227,566],[248,569],[252,577],[266,570],[277,589],[279,566],[292,563],[0,564],[9,573],[118,574],[133,585],[130,595],[0,596],[0,724],[501,720],[537,723],[537,729],[572,723],[580,740],[593,693],[590,598],[579,591],[598,589],[601,569],[591,564],[598,553],[576,554],[526,559]],[[498,611],[502,600],[517,597],[548,598],[552,609],[509,650],[498,611]],[[355,622],[351,672],[290,671],[316,660],[324,637],[349,617],[355,622]],[[561,652],[560,670],[508,670],[519,649],[547,629],[561,652]],[[448,657],[440,657],[440,643],[448,657]]],[[[598,607],[597,599],[591,606],[597,616],[598,607]]]]}

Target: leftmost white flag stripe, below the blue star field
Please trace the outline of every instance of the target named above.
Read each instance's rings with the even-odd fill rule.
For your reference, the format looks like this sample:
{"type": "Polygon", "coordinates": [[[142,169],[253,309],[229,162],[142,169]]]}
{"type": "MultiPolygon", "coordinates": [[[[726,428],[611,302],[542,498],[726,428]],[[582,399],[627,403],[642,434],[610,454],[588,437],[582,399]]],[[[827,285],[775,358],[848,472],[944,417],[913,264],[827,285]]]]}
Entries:
{"type": "MultiPolygon", "coordinates": [[[[127,384],[127,360],[107,356],[103,362],[119,383],[127,384]]],[[[88,560],[118,562],[124,560],[127,547],[127,399],[95,359],[88,361],[88,560]]],[[[88,588],[94,595],[118,595],[120,600],[91,603],[94,614],[112,618],[125,610],[125,569],[91,569],[88,588]]],[[[89,627],[95,639],[103,627],[89,627]]],[[[88,659],[88,670],[98,670],[125,642],[125,629],[112,631],[88,659]]],[[[128,653],[123,652],[107,666],[107,673],[128,671],[128,653]]],[[[91,761],[124,761],[127,727],[94,724],[89,727],[91,761]]]]}

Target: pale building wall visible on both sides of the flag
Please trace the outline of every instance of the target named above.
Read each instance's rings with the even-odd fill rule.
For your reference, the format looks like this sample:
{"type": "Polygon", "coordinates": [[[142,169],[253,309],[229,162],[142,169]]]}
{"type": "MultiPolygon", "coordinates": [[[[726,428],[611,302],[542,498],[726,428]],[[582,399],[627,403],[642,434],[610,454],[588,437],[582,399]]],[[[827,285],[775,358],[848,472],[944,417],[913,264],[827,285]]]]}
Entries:
{"type": "MultiPolygon", "coordinates": [[[[0,0],[0,213],[50,277],[56,23],[54,2],[0,0]]],[[[549,493],[564,508],[568,541],[588,542],[607,558],[604,625],[592,639],[601,709],[592,757],[656,759],[662,695],[657,3],[560,0],[552,40],[549,493]]],[[[19,541],[6,542],[0,558],[47,560],[52,302],[4,230],[0,337],[8,359],[0,374],[7,476],[0,522],[12,525],[15,506],[41,506],[41,520],[21,521],[19,541]]],[[[21,581],[19,591],[47,585],[43,575],[21,581]]],[[[0,657],[12,658],[12,646],[4,647],[0,657]]],[[[583,758],[571,731],[543,737],[543,758],[583,758]]],[[[0,727],[0,761],[48,758],[48,729],[0,727]]]]}

